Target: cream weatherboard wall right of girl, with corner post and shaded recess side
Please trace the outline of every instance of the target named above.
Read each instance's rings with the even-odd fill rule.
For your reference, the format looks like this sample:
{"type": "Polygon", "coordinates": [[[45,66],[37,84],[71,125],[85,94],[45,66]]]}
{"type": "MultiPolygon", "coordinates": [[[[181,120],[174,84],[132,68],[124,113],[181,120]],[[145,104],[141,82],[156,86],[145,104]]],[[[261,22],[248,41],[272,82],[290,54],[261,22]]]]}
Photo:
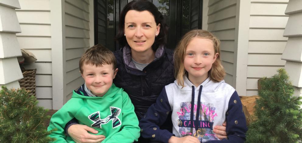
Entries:
{"type": "Polygon", "coordinates": [[[288,0],[205,0],[203,29],[221,40],[226,83],[239,95],[257,95],[259,78],[276,74],[287,38],[288,0]]]}

